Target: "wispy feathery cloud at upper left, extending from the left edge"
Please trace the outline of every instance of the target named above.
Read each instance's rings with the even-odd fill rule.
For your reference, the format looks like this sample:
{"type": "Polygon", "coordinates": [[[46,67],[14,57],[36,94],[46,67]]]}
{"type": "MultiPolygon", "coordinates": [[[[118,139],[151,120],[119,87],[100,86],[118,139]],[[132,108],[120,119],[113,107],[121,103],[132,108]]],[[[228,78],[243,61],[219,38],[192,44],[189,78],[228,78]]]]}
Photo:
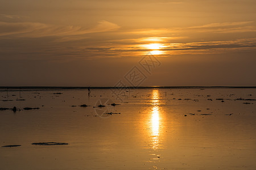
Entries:
{"type": "Polygon", "coordinates": [[[102,20],[95,27],[79,26],[60,27],[43,23],[6,23],[0,22],[0,36],[15,35],[15,37],[46,37],[46,36],[76,36],[86,33],[115,31],[120,28],[117,24],[102,20]]]}

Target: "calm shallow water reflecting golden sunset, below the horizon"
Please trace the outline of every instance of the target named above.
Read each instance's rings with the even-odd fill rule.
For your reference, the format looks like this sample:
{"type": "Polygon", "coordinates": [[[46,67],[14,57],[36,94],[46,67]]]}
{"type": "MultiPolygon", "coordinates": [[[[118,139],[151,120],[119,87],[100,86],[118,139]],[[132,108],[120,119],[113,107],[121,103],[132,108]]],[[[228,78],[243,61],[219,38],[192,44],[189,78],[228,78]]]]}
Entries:
{"type": "Polygon", "coordinates": [[[0,146],[22,145],[0,169],[256,169],[256,102],[239,98],[256,89],[2,90],[0,108],[40,109],[0,111],[0,146]]]}

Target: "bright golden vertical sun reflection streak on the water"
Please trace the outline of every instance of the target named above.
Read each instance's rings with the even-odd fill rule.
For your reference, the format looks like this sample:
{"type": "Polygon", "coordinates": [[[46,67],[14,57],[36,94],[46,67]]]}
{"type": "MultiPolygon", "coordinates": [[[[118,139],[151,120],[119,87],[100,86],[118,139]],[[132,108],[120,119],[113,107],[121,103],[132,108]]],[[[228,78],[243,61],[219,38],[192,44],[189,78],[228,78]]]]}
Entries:
{"type": "Polygon", "coordinates": [[[159,92],[157,89],[152,91],[152,116],[151,116],[151,136],[152,136],[152,148],[158,149],[159,145],[159,92]]]}

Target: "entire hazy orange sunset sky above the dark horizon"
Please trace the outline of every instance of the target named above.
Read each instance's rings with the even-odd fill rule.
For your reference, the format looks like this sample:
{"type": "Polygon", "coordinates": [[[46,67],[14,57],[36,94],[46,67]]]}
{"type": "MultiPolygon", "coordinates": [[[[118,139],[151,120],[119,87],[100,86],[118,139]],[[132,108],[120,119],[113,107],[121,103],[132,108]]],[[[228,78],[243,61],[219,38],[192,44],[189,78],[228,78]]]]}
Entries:
{"type": "Polygon", "coordinates": [[[0,0],[0,86],[256,86],[255,9],[255,0],[0,0]]]}

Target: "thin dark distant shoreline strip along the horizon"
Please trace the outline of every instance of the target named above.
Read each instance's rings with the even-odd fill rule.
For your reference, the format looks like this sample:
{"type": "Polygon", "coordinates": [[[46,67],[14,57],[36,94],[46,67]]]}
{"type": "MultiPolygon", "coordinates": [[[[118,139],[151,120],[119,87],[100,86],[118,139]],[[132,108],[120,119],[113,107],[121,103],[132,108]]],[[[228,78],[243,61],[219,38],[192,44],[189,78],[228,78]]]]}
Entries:
{"type": "MultiPolygon", "coordinates": [[[[115,89],[115,88],[124,88],[124,87],[114,87],[114,86],[90,86],[90,89],[115,89]]],[[[140,87],[125,87],[129,89],[150,89],[150,88],[170,88],[170,89],[192,89],[192,88],[256,88],[256,86],[140,86],[140,87]]],[[[10,89],[10,90],[83,90],[88,89],[88,86],[83,87],[61,87],[61,86],[0,86],[1,90],[10,89]]]]}

